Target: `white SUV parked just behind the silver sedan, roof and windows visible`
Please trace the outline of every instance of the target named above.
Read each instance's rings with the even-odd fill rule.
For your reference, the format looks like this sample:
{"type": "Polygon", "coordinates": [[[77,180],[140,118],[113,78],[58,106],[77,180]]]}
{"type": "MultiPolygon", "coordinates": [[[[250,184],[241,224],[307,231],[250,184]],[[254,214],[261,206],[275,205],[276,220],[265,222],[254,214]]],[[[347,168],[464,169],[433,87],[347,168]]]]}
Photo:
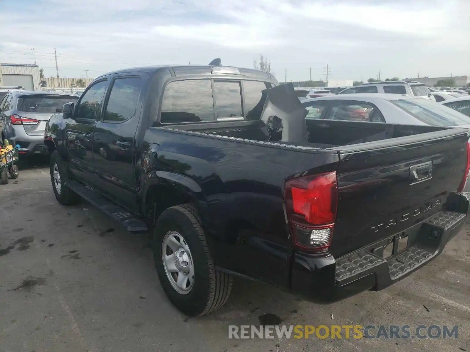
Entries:
{"type": "Polygon", "coordinates": [[[352,88],[347,88],[338,94],[354,94],[354,93],[391,93],[391,94],[406,94],[415,95],[418,97],[427,98],[436,101],[431,91],[426,84],[418,82],[405,82],[405,81],[386,81],[386,82],[373,82],[356,85],[352,88]]]}

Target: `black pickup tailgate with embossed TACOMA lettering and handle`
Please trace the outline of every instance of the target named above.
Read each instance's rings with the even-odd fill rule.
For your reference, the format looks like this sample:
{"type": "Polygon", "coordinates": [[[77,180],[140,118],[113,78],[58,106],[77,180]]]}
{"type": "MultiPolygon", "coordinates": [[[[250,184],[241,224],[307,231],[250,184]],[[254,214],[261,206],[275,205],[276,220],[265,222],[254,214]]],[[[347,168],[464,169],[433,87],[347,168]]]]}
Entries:
{"type": "Polygon", "coordinates": [[[340,162],[330,253],[339,258],[441,211],[462,181],[468,140],[455,128],[332,148],[340,162]]]}

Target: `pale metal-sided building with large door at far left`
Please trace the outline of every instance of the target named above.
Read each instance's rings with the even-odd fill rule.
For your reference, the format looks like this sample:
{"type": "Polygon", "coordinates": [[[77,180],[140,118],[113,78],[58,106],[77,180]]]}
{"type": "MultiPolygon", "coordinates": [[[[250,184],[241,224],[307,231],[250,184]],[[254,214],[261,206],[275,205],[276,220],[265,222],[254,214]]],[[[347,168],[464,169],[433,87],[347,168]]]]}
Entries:
{"type": "Polygon", "coordinates": [[[39,66],[24,63],[0,63],[0,86],[21,85],[24,89],[39,91],[39,66]]]}

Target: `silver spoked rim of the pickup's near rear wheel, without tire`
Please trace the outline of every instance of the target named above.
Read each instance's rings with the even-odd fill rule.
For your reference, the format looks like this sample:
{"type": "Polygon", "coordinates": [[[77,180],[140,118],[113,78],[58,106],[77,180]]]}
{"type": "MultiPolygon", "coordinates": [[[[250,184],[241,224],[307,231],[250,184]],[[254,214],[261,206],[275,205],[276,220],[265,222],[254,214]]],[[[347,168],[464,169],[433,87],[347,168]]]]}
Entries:
{"type": "Polygon", "coordinates": [[[168,281],[180,294],[188,294],[194,285],[193,257],[188,244],[176,231],[169,231],[163,238],[162,260],[168,281]]]}

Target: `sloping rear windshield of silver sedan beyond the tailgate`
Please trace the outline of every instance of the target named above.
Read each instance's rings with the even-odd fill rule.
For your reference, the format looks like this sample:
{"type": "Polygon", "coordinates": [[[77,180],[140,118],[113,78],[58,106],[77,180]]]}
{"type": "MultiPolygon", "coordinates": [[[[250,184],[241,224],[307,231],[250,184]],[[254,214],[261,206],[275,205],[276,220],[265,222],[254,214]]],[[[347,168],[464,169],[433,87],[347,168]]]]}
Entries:
{"type": "Polygon", "coordinates": [[[431,126],[458,126],[470,123],[470,119],[448,107],[427,99],[391,100],[392,104],[405,110],[419,121],[431,126]]]}

